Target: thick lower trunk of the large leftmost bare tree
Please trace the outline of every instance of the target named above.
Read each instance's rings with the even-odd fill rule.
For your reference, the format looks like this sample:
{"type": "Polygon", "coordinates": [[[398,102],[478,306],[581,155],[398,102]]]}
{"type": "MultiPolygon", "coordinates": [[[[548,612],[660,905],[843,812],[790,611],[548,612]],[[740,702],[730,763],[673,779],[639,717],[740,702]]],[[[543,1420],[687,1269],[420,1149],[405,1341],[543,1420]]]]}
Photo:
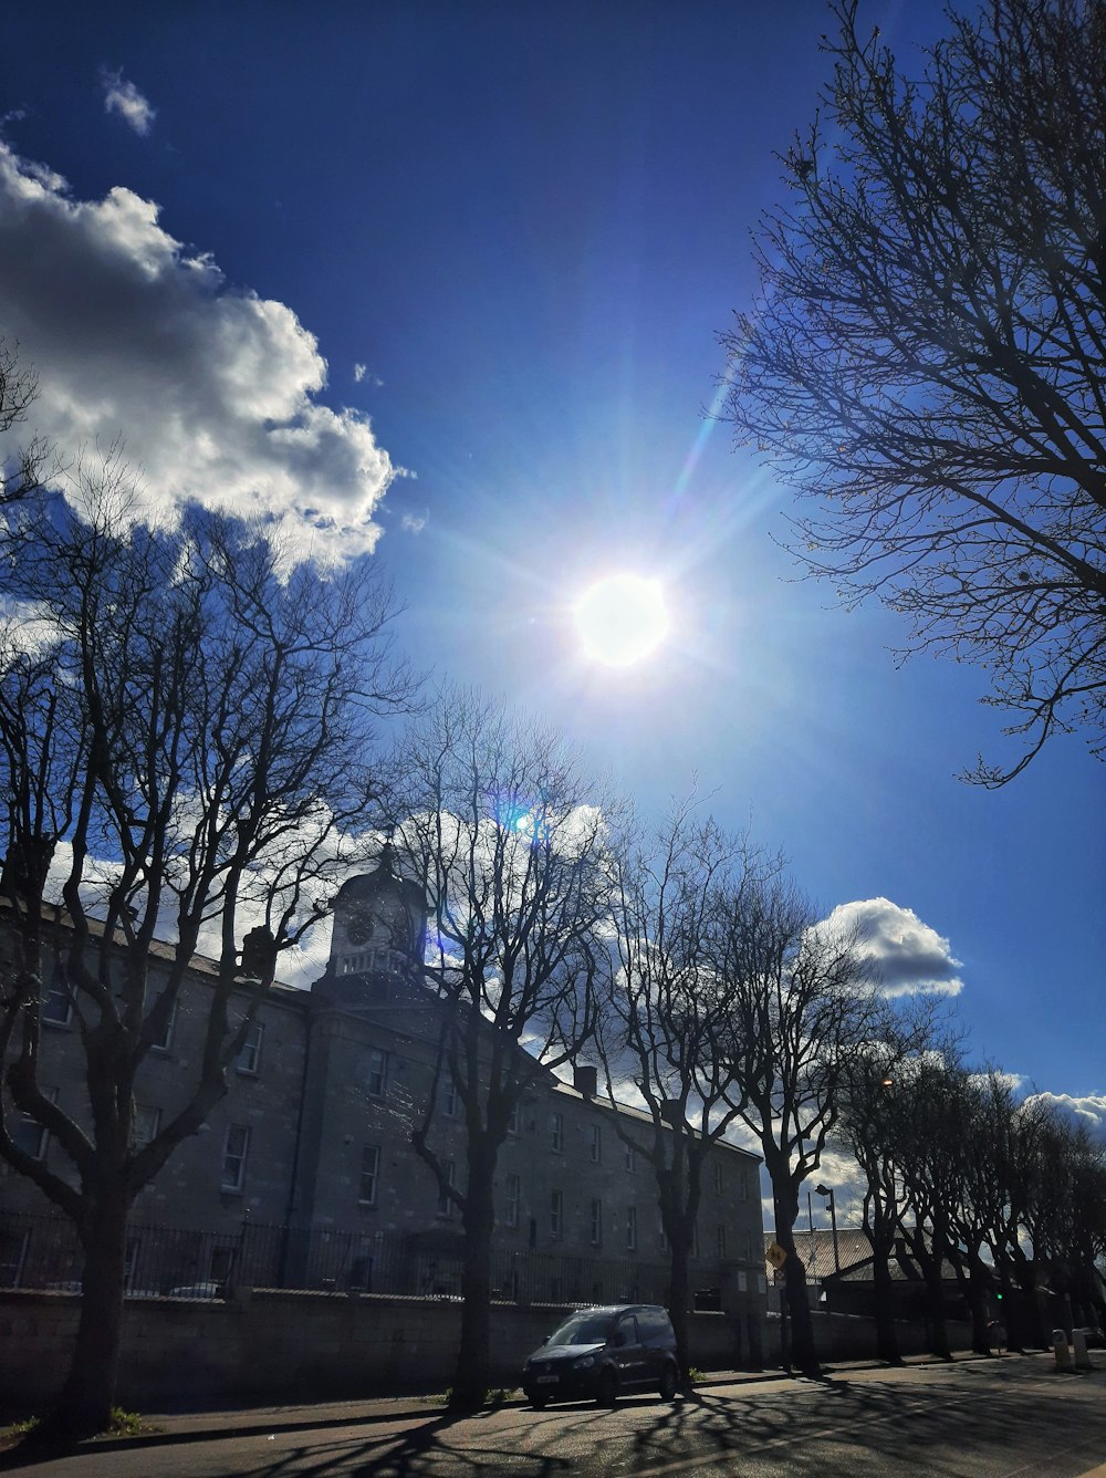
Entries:
{"type": "Polygon", "coordinates": [[[111,1425],[123,1345],[123,1289],[130,1203],[120,1190],[96,1197],[81,1231],[84,1281],[69,1373],[46,1423],[50,1437],[77,1441],[111,1425]]]}

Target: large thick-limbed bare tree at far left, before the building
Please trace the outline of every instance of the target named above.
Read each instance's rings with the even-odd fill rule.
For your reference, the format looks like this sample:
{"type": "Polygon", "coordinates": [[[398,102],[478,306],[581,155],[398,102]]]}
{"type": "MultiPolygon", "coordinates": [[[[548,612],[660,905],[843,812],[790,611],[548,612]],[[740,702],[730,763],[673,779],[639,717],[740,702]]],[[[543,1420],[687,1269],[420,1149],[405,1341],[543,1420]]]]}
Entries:
{"type": "Polygon", "coordinates": [[[118,466],[81,501],[83,516],[41,508],[10,545],[19,616],[0,637],[0,903],[16,943],[0,1154],[84,1252],[53,1423],[66,1435],[109,1419],[131,1203],[226,1092],[279,949],[325,912],[343,832],[374,801],[374,715],[406,692],[385,655],[387,591],[363,572],[282,571],[264,538],[216,516],[176,534],[133,525],[118,466]],[[201,944],[216,974],[190,1092],[139,1144],[136,1085],[201,944]],[[40,1077],[52,984],[80,1033],[86,1117],[40,1077]],[[68,1172],[21,1148],[13,1114],[49,1132],[68,1172]]]}

